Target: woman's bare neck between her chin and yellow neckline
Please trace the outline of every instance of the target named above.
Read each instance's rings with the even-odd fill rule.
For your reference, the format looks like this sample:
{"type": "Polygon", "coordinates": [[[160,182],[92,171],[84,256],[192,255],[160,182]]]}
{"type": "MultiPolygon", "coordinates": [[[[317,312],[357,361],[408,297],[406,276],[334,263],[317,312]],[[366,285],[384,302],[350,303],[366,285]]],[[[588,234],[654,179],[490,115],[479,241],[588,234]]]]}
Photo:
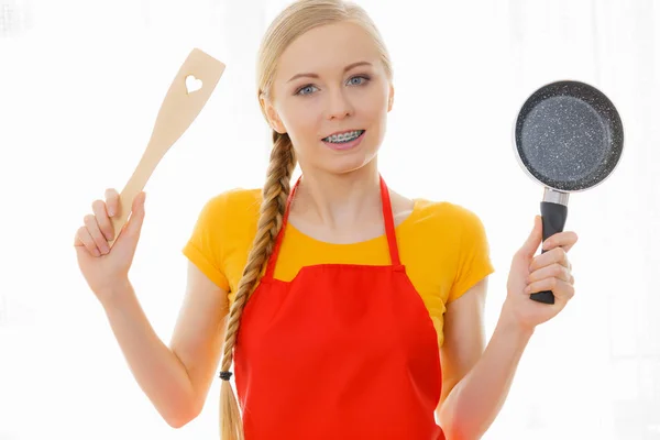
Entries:
{"type": "Polygon", "coordinates": [[[382,222],[376,160],[345,174],[304,170],[293,205],[309,221],[330,229],[382,222]]]}

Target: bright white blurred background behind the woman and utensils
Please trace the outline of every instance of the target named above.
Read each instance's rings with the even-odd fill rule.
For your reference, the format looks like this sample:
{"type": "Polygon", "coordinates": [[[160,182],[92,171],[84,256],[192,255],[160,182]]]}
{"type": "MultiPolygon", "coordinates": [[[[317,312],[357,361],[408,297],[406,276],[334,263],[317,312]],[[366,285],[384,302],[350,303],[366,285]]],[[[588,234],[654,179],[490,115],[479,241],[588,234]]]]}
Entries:
{"type": "MultiPolygon", "coordinates": [[[[227,65],[145,190],[131,277],[164,341],[180,306],[180,250],[204,204],[260,187],[270,132],[255,92],[260,40],[288,0],[0,0],[0,439],[218,436],[204,413],[174,430],[134,382],[73,239],[103,190],[121,190],[194,47],[227,65]]],[[[601,186],[571,196],[576,296],[538,328],[484,439],[660,439],[660,3],[652,0],[356,0],[383,33],[396,99],[381,153],[409,197],[476,212],[496,273],[542,188],[518,166],[517,112],[537,88],[576,79],[624,120],[625,152],[601,186]]]]}

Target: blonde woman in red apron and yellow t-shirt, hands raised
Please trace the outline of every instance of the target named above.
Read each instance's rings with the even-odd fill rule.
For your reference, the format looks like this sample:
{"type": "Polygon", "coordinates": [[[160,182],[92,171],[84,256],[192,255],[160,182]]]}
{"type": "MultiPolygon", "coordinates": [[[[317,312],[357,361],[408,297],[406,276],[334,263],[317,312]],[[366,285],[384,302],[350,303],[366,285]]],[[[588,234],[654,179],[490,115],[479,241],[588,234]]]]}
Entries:
{"type": "Polygon", "coordinates": [[[226,440],[479,439],[535,327],[573,296],[566,252],[576,235],[556,234],[535,257],[535,219],[484,350],[493,266],[480,219],[408,199],[378,173],[393,72],[365,12],[340,0],[290,4],[264,37],[257,74],[273,129],[266,183],[206,204],[184,248],[188,287],[169,346],[128,276],[144,193],[111,251],[116,190],[76,234],[80,270],[138,383],[168,424],[184,426],[222,354],[226,440]],[[529,299],[546,289],[554,305],[529,299]]]}

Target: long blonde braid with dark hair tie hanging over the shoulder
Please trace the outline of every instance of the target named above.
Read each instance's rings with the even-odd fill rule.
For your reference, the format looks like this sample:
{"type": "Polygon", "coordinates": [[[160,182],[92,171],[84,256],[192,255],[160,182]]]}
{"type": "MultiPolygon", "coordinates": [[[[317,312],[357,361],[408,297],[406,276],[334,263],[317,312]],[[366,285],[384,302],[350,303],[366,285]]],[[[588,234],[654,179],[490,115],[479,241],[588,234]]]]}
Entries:
{"type": "Polygon", "coordinates": [[[229,383],[229,369],[233,362],[233,348],[245,302],[254,288],[273,253],[273,246],[279,230],[286,200],[290,191],[290,180],[296,167],[296,156],[288,134],[273,131],[273,151],[268,165],[266,183],[263,189],[256,235],[248,256],[248,264],[239,282],[234,302],[229,312],[229,322],[224,336],[220,388],[220,439],[243,440],[243,424],[233,388],[229,383]]]}

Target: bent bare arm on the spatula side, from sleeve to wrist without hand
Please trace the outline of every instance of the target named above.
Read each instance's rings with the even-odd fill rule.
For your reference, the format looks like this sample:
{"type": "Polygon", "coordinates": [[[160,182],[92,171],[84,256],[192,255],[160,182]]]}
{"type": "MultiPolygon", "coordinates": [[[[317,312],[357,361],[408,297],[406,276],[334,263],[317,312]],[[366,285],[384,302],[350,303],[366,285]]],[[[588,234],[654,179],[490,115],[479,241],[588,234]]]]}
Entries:
{"type": "Polygon", "coordinates": [[[163,419],[180,428],[204,407],[224,341],[227,292],[193,263],[169,348],[155,333],[130,283],[103,309],[133,376],[163,419]]]}

